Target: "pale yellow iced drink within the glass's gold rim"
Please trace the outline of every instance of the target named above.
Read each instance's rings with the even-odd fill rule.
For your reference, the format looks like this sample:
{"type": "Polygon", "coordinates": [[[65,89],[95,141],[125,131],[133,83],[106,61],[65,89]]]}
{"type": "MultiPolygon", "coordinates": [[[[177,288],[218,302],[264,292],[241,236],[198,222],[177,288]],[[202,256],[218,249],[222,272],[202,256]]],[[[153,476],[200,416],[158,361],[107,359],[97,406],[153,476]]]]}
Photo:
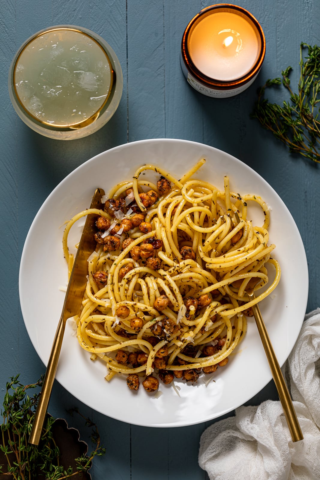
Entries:
{"type": "Polygon", "coordinates": [[[31,40],[14,72],[23,108],[37,120],[62,128],[78,128],[94,120],[107,102],[112,82],[105,50],[92,37],[69,28],[56,28],[31,40]]]}

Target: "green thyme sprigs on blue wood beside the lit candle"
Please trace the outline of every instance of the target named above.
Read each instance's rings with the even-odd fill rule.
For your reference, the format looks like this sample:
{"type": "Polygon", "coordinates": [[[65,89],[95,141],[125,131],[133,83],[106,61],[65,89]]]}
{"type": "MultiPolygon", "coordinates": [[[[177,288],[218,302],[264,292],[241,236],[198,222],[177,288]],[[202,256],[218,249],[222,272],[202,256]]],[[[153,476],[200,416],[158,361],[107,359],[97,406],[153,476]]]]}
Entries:
{"type": "Polygon", "coordinates": [[[301,43],[299,65],[298,93],[294,93],[290,87],[289,73],[292,68],[287,67],[282,71],[282,78],[267,80],[259,88],[258,100],[251,117],[258,119],[265,129],[271,130],[276,138],[288,146],[290,152],[299,153],[319,163],[320,47],[301,43]],[[305,48],[308,48],[308,55],[304,59],[305,48]],[[290,93],[290,101],[284,101],[283,107],[264,98],[266,88],[281,83],[290,93]]]}

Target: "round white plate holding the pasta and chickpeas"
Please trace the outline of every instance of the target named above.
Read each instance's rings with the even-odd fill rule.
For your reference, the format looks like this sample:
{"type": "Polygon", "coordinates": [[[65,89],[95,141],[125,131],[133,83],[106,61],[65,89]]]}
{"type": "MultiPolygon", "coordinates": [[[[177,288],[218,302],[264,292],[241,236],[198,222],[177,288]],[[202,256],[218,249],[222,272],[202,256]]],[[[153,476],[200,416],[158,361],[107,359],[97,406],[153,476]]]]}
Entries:
{"type": "MultiPolygon", "coordinates": [[[[274,257],[281,264],[282,277],[260,306],[280,365],[287,359],[300,332],[308,297],[306,254],[288,209],[265,180],[225,152],[185,140],[157,139],[120,145],[88,160],[55,188],[33,221],[21,259],[19,291],[25,326],[45,364],[65,295],[59,286],[67,282],[62,224],[89,206],[96,187],[107,193],[114,184],[129,180],[144,163],[161,165],[181,178],[200,157],[207,163],[198,178],[223,188],[223,177],[229,175],[232,191],[261,195],[272,210],[270,240],[276,244],[274,257]]],[[[147,176],[155,178],[152,173],[147,176]]],[[[257,212],[250,215],[261,225],[262,218],[255,218],[257,212]]],[[[73,234],[79,239],[81,228],[74,228],[73,234]]],[[[179,396],[171,385],[164,384],[158,398],[142,387],[132,392],[124,376],[107,383],[105,365],[90,360],[69,322],[56,378],[83,403],[125,422],[177,427],[211,420],[248,401],[272,378],[254,320],[250,318],[248,323],[246,337],[228,365],[216,372],[215,382],[205,386],[201,379],[193,385],[176,380],[179,396]]]]}

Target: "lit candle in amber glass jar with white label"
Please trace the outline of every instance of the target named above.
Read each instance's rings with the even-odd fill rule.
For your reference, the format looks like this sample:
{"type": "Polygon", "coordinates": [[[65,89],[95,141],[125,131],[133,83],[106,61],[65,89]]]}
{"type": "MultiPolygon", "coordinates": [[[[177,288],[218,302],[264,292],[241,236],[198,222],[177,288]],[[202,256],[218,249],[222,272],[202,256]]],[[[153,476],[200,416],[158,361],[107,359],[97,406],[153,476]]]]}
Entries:
{"type": "Polygon", "coordinates": [[[188,82],[207,96],[234,96],[256,78],[265,54],[260,24],[236,5],[212,5],[188,24],[181,67],[188,82]]]}

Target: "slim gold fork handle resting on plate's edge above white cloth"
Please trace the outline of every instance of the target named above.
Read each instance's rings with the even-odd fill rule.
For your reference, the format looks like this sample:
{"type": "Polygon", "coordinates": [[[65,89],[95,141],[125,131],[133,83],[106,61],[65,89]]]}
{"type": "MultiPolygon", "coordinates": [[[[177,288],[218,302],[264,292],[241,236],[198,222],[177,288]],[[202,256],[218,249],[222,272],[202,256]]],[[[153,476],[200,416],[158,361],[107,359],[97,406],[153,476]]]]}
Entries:
{"type": "Polygon", "coordinates": [[[284,416],[289,427],[292,441],[298,442],[299,440],[303,440],[303,434],[301,432],[301,428],[300,428],[298,419],[296,417],[296,411],[292,404],[292,400],[291,400],[288,388],[284,382],[284,376],[281,372],[279,362],[275,356],[272,343],[270,341],[266,326],[264,324],[264,321],[260,312],[260,308],[257,304],[252,305],[251,308],[254,314],[254,318],[255,318],[258,330],[259,330],[263,348],[269,362],[273,380],[278,391],[279,399],[280,399],[282,408],[284,409],[284,416]]]}

